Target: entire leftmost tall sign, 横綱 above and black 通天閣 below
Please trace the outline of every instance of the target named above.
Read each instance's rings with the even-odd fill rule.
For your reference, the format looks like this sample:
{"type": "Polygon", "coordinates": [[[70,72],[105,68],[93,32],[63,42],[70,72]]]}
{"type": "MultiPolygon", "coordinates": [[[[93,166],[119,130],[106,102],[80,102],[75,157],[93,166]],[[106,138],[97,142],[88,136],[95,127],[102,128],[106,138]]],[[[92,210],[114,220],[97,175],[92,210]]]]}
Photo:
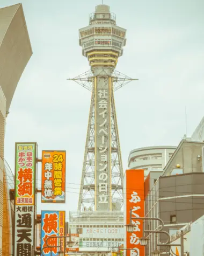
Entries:
{"type": "Polygon", "coordinates": [[[16,143],[14,256],[32,256],[35,245],[36,143],[16,143]]]}

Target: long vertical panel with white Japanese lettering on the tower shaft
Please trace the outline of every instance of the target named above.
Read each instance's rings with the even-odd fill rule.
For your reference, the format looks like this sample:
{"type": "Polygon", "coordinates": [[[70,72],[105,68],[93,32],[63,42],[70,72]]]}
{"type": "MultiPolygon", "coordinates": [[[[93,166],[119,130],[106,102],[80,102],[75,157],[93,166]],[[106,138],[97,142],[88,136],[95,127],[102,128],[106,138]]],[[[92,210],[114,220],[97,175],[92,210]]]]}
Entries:
{"type": "Polygon", "coordinates": [[[96,77],[95,210],[111,210],[111,78],[96,77]]]}

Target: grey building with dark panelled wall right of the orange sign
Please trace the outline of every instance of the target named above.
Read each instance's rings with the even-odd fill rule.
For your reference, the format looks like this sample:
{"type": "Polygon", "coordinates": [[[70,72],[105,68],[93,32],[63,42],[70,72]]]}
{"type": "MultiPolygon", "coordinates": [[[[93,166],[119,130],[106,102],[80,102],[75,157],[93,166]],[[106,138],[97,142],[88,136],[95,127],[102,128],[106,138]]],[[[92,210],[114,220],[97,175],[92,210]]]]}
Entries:
{"type": "MultiPolygon", "coordinates": [[[[204,214],[203,147],[204,142],[182,140],[166,164],[163,176],[150,172],[144,182],[145,216],[161,218],[164,230],[169,233],[204,214]]],[[[157,221],[147,221],[145,229],[156,230],[158,225],[157,221]]],[[[157,242],[166,241],[166,236],[156,236],[154,233],[149,238],[146,255],[150,256],[157,242]]],[[[164,251],[164,247],[160,249],[164,251]]]]}

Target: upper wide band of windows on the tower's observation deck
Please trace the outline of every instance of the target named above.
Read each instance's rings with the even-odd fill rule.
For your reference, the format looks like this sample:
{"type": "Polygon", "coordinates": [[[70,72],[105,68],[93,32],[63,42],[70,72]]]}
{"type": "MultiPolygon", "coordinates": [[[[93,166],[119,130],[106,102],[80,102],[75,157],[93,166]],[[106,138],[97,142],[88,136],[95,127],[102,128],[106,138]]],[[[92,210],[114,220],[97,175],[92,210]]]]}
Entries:
{"type": "Polygon", "coordinates": [[[81,31],[80,34],[82,38],[91,36],[92,34],[114,34],[115,36],[125,38],[125,32],[114,29],[113,27],[94,27],[89,30],[81,31]]]}

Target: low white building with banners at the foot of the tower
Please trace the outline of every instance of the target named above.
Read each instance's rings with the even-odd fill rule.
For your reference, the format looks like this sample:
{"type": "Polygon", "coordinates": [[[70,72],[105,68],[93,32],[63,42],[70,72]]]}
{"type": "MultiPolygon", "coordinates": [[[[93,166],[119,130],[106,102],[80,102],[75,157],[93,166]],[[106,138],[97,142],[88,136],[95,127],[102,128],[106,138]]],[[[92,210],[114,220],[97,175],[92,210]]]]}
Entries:
{"type": "Polygon", "coordinates": [[[125,237],[121,211],[70,211],[69,227],[79,234],[79,252],[116,251],[125,237]]]}

